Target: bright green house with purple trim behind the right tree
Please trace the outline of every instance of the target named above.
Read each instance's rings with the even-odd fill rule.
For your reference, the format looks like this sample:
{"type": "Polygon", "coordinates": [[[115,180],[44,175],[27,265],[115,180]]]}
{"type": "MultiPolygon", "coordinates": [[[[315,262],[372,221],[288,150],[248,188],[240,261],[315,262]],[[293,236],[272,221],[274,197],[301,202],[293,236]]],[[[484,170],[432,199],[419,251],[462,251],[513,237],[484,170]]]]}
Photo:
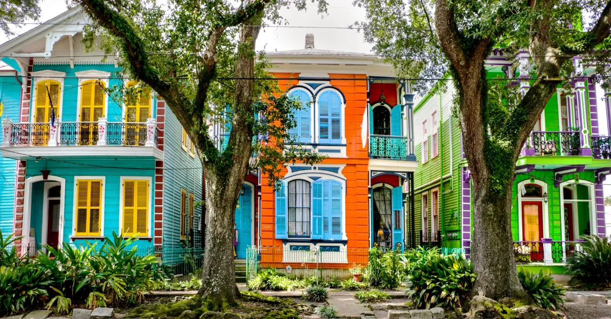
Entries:
{"type": "MultiPolygon", "coordinates": [[[[518,61],[494,50],[488,77],[514,78],[525,93],[530,84],[521,74],[530,65],[518,61]]],[[[593,70],[581,68],[580,59],[574,63],[578,75],[547,103],[516,163],[511,228],[518,263],[563,263],[585,234],[607,235],[602,182],[611,172],[611,137],[604,135],[611,130],[598,123],[602,107],[607,117],[611,113],[611,99],[597,95],[593,70]]],[[[472,184],[459,120],[452,115],[456,88],[447,82],[414,108],[415,229],[422,245],[464,249],[468,256],[472,184]]]]}

